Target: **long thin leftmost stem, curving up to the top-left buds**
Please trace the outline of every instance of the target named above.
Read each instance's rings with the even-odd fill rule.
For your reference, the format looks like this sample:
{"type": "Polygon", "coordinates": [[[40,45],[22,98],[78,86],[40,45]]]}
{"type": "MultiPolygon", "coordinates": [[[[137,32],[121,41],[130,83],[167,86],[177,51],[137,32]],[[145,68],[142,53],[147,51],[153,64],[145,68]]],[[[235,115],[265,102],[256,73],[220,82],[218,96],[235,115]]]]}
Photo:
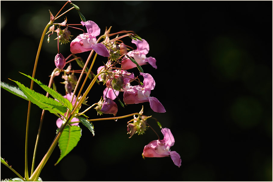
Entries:
{"type": "MultiPolygon", "coordinates": [[[[42,43],[46,34],[46,30],[48,29],[48,27],[52,24],[52,22],[49,22],[46,26],[45,29],[42,33],[42,37],[39,43],[39,47],[38,47],[38,51],[37,51],[37,55],[36,55],[36,59],[35,59],[35,63],[34,63],[34,68],[33,68],[33,73],[32,73],[32,77],[35,77],[35,73],[36,73],[36,68],[37,68],[37,64],[38,64],[38,58],[41,52],[41,48],[42,48],[42,43]]],[[[33,80],[31,80],[31,84],[30,84],[30,89],[33,89],[33,80]]],[[[26,180],[29,180],[29,174],[28,174],[28,167],[27,167],[27,146],[28,146],[28,130],[29,130],[29,116],[30,116],[30,106],[31,106],[31,102],[29,101],[28,103],[28,110],[27,110],[27,119],[26,119],[26,143],[25,143],[25,178],[26,180]]]]}

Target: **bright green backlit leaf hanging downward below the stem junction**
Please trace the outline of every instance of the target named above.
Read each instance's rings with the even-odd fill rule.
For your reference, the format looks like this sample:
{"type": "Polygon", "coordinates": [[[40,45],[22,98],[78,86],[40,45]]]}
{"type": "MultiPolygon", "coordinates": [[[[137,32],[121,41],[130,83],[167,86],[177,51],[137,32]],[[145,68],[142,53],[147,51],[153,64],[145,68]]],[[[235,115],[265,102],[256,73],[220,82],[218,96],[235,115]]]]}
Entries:
{"type": "Polygon", "coordinates": [[[57,165],[75,146],[82,136],[82,129],[79,126],[67,125],[59,139],[60,158],[54,164],[57,165]]]}

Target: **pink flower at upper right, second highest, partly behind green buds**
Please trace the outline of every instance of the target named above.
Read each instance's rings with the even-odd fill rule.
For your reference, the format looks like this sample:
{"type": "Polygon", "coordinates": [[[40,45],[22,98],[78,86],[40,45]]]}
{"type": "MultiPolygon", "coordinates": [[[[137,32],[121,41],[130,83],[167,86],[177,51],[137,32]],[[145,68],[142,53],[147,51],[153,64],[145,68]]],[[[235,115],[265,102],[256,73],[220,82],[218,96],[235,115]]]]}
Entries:
{"type": "MultiPolygon", "coordinates": [[[[149,63],[150,65],[152,65],[154,68],[157,69],[156,59],[153,57],[149,57],[149,58],[146,57],[146,55],[148,54],[148,52],[150,50],[148,42],[146,40],[142,39],[142,41],[141,40],[138,40],[138,41],[132,40],[132,43],[134,43],[137,46],[137,49],[128,52],[127,55],[130,57],[131,56],[134,57],[135,61],[139,65],[149,63]]],[[[133,63],[129,58],[121,61],[121,63],[122,63],[122,68],[125,70],[136,67],[136,64],[133,63]]]]}

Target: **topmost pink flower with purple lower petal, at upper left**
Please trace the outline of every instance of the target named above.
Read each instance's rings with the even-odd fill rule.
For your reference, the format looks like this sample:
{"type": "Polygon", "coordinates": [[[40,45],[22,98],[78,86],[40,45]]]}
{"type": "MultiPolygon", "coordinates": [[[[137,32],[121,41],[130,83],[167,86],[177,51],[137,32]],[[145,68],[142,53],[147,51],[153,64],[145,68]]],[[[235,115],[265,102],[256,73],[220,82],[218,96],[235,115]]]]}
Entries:
{"type": "Polygon", "coordinates": [[[70,51],[73,54],[91,51],[94,49],[98,55],[109,57],[109,51],[106,46],[102,43],[97,43],[97,38],[101,32],[101,29],[94,21],[81,21],[81,24],[86,27],[87,33],[83,33],[78,35],[71,43],[70,43],[70,51]]]}

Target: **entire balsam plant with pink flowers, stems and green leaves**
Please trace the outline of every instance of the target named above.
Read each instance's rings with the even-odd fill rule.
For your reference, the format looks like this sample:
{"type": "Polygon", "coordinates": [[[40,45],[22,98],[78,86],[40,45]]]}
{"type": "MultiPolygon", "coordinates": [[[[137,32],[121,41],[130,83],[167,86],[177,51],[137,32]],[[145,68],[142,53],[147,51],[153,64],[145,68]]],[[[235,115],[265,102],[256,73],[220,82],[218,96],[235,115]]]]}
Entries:
{"type": "MultiPolygon", "coordinates": [[[[177,152],[170,150],[170,147],[173,146],[175,142],[171,131],[168,128],[162,128],[156,118],[144,115],[143,106],[140,111],[133,112],[132,114],[116,116],[118,112],[117,104],[126,107],[128,104],[149,102],[150,107],[154,112],[166,112],[164,106],[159,102],[159,100],[150,96],[151,90],[154,90],[155,88],[155,80],[152,75],[145,72],[145,69],[142,68],[145,64],[150,64],[152,67],[157,69],[156,59],[153,57],[147,57],[149,53],[148,42],[133,31],[110,33],[111,27],[108,29],[106,28],[104,34],[99,36],[101,34],[101,29],[98,25],[91,20],[86,20],[80,11],[80,8],[71,1],[66,2],[55,16],[50,11],[49,15],[49,23],[46,25],[40,40],[33,74],[30,76],[21,73],[22,76],[28,77],[31,80],[30,88],[24,86],[20,81],[12,79],[10,80],[17,86],[1,82],[1,87],[3,89],[28,101],[24,174],[17,173],[17,171],[8,165],[8,162],[2,158],[4,156],[1,156],[1,163],[10,168],[19,177],[14,178],[13,180],[41,180],[39,175],[57,144],[60,148],[60,158],[57,160],[55,165],[57,165],[62,158],[76,147],[81,138],[81,127],[87,127],[94,136],[95,130],[92,122],[117,120],[121,118],[129,118],[129,121],[127,122],[127,132],[130,135],[129,138],[134,134],[142,135],[145,133],[147,128],[151,128],[148,124],[148,120],[157,122],[164,138],[163,140],[160,140],[159,135],[153,128],[151,128],[157,134],[158,140],[151,141],[149,144],[144,146],[142,152],[143,158],[170,156],[174,164],[180,167],[180,155],[177,152]],[[60,14],[61,10],[66,5],[71,5],[72,7],[60,14]],[[69,24],[67,17],[63,22],[55,23],[57,19],[73,9],[78,12],[79,19],[81,19],[81,21],[77,22],[78,24],[69,24]],[[73,36],[68,30],[71,28],[78,29],[82,34],[79,34],[72,40],[73,36]],[[54,67],[49,83],[46,85],[35,78],[35,73],[43,39],[45,39],[45,36],[47,35],[49,42],[55,34],[57,35],[57,38],[54,40],[57,40],[58,45],[58,50],[56,51],[57,55],[54,58],[56,67],[54,67]],[[132,44],[135,44],[137,48],[133,49],[133,45],[126,45],[123,42],[123,39],[132,39],[132,44]],[[65,57],[60,53],[59,45],[62,44],[65,46],[70,45],[70,55],[66,55],[65,57]],[[86,61],[83,61],[84,59],[80,57],[82,52],[90,52],[86,61]],[[104,57],[105,61],[101,67],[94,68],[93,65],[98,55],[104,57]],[[76,68],[77,71],[75,71],[71,66],[71,61],[76,61],[79,65],[79,68],[76,68]],[[90,61],[91,65],[89,65],[90,61]],[[130,71],[130,69],[134,67],[138,68],[138,73],[132,73],[130,71]],[[55,89],[55,77],[62,77],[62,79],[64,79],[63,84],[66,91],[64,96],[55,89]],[[134,86],[132,85],[132,82],[134,82],[134,86]],[[93,85],[97,83],[105,87],[103,93],[91,90],[93,85]],[[46,95],[35,92],[33,90],[34,84],[41,86],[41,88],[47,92],[46,95]],[[88,85],[87,89],[84,89],[85,85],[88,85]],[[98,102],[88,105],[88,94],[91,92],[92,97],[95,95],[98,96],[98,102]],[[120,92],[123,92],[123,100],[118,97],[120,92]],[[50,98],[49,95],[53,98],[50,98]],[[31,104],[35,104],[42,109],[42,116],[40,118],[41,124],[38,130],[35,149],[33,152],[32,166],[29,173],[27,153],[31,104]],[[82,105],[88,106],[86,109],[81,110],[82,105]],[[90,109],[95,109],[101,118],[92,119],[92,116],[88,115],[90,109]],[[36,150],[38,147],[42,121],[46,111],[57,116],[57,132],[48,151],[45,153],[38,166],[35,166],[36,150]],[[104,114],[113,114],[113,117],[102,117],[104,114]]],[[[52,65],[54,65],[53,58],[52,65]]]]}

